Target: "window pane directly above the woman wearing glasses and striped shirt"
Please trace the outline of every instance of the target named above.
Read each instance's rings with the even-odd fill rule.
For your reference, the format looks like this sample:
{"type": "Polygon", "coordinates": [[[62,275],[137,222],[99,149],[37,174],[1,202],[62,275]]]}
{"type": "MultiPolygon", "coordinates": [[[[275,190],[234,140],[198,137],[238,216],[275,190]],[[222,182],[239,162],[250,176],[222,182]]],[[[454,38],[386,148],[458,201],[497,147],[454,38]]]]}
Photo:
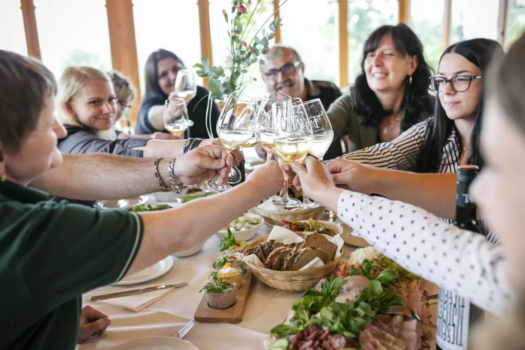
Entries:
{"type": "Polygon", "coordinates": [[[498,39],[498,0],[452,0],[450,45],[474,38],[498,39]]]}

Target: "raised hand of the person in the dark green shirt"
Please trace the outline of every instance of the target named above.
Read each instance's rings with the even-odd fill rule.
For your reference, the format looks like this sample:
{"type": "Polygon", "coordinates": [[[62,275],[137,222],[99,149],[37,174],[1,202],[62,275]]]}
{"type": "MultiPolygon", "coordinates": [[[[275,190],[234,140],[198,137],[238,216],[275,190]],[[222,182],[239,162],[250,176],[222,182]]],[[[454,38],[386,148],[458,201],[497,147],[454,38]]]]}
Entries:
{"type": "Polygon", "coordinates": [[[266,198],[282,189],[284,180],[277,162],[270,160],[252,171],[246,178],[246,183],[254,185],[260,198],[266,198]]]}

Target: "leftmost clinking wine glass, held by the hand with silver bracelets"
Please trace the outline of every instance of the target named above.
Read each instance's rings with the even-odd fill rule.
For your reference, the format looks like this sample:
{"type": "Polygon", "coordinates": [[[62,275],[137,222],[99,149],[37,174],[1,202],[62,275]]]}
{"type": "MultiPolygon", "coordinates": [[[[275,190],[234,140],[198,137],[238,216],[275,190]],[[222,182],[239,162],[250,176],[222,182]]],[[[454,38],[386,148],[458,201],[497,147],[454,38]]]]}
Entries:
{"type": "MultiPolygon", "coordinates": [[[[229,94],[217,121],[217,134],[228,154],[245,145],[254,135],[257,105],[257,99],[238,93],[229,94]]],[[[232,188],[229,184],[218,183],[216,179],[206,179],[202,186],[216,193],[232,188]]]]}

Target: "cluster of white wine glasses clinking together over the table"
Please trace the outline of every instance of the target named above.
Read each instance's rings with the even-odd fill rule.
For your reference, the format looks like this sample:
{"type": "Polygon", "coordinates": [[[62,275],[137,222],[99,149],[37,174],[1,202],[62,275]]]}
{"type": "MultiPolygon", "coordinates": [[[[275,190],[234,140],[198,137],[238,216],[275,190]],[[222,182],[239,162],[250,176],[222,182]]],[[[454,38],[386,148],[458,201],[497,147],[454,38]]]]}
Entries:
{"type": "MultiPolygon", "coordinates": [[[[217,123],[217,134],[228,152],[259,143],[267,161],[277,156],[286,165],[301,162],[308,154],[322,161],[332,144],[333,130],[319,99],[303,102],[283,93],[267,93],[253,98],[232,93],[228,96],[217,123]]],[[[287,184],[288,185],[288,184],[287,184]]],[[[207,179],[202,186],[213,192],[231,188],[207,179]]],[[[317,203],[290,198],[288,191],[272,203],[281,207],[314,207],[317,203]]]]}

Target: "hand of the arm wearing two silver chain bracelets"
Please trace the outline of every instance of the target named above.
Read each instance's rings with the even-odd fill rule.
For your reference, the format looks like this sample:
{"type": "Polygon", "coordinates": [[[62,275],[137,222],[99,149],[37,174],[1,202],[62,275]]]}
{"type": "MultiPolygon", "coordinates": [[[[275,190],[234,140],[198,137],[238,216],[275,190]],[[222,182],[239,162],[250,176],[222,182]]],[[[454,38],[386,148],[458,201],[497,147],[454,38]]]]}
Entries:
{"type": "Polygon", "coordinates": [[[238,165],[226,149],[219,146],[199,146],[175,161],[174,172],[184,184],[190,185],[219,177],[226,183],[232,166],[238,165]]]}

